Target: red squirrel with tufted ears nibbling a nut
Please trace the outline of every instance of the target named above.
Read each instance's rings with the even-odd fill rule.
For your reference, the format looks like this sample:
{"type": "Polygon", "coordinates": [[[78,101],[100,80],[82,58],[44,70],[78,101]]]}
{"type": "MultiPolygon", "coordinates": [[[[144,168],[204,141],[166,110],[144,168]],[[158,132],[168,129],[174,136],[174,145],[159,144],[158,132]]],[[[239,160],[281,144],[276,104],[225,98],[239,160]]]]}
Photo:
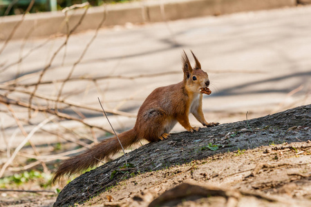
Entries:
{"type": "MultiPolygon", "coordinates": [[[[196,65],[191,68],[185,51],[182,55],[182,70],[184,78],[181,82],[156,88],[142,103],[138,110],[133,129],[118,135],[122,146],[127,148],[132,144],[147,139],[159,141],[167,139],[169,132],[179,122],[187,131],[194,132],[198,128],[189,124],[189,113],[192,113],[203,126],[217,126],[218,123],[208,123],[202,111],[202,94],[209,95],[209,76],[201,69],[200,62],[191,51],[196,65]]],[[[99,144],[80,155],[66,159],[55,172],[53,183],[64,175],[72,175],[97,165],[100,160],[120,151],[117,137],[104,139],[99,144]]]]}

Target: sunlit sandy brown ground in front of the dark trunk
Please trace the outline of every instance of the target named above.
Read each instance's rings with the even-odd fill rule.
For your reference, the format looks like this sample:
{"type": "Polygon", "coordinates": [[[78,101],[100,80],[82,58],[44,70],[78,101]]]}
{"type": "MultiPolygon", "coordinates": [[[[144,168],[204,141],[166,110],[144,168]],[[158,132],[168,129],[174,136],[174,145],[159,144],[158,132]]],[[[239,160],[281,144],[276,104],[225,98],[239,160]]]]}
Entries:
{"type": "MultiPolygon", "coordinates": [[[[300,146],[301,142],[295,144],[300,146]]],[[[278,146],[288,146],[288,144],[278,146]]],[[[310,144],[308,146],[311,148],[310,144]]],[[[248,206],[247,202],[250,199],[256,199],[255,195],[269,195],[267,197],[271,201],[279,201],[275,206],[290,206],[293,203],[296,206],[310,205],[311,183],[310,174],[308,174],[310,172],[310,148],[309,151],[298,150],[297,152],[285,148],[285,150],[273,150],[273,152],[264,153],[265,150],[274,147],[267,146],[254,150],[226,152],[167,170],[147,172],[122,181],[99,197],[86,202],[84,206],[109,204],[109,200],[114,202],[111,202],[110,206],[117,206],[117,204],[147,206],[150,201],[166,190],[189,181],[199,186],[209,188],[217,186],[225,191],[231,188],[238,189],[237,192],[249,193],[249,195],[244,195],[240,206],[248,206]],[[267,164],[267,166],[263,164],[267,164]],[[252,173],[254,174],[255,166],[259,167],[259,171],[256,172],[256,175],[251,176],[252,173]],[[135,203],[137,197],[142,198],[139,204],[135,203]],[[284,198],[287,199],[287,202],[281,201],[284,198]]],[[[176,195],[178,195],[177,192],[173,193],[173,196],[169,197],[169,201],[175,200],[176,202],[177,200],[178,203],[182,203],[179,206],[191,206],[191,203],[195,202],[186,193],[181,196],[178,195],[178,197],[176,195]]],[[[223,196],[218,195],[218,197],[223,196]]],[[[205,206],[211,206],[211,204],[208,205],[209,201],[212,204],[223,204],[223,201],[212,201],[212,199],[207,199],[206,196],[202,195],[198,198],[201,200],[196,201],[196,204],[203,202],[205,206]],[[203,201],[202,198],[207,200],[203,201]]],[[[272,206],[271,201],[256,201],[256,204],[272,206]]]]}

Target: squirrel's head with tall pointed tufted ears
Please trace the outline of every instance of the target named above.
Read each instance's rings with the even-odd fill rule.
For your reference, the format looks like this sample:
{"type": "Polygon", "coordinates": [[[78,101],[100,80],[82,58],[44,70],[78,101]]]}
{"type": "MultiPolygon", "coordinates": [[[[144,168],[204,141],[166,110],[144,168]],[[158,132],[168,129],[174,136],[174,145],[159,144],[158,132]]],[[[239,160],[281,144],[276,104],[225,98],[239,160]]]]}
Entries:
{"type": "Polygon", "coordinates": [[[194,55],[194,52],[190,50],[196,61],[196,66],[191,68],[190,61],[186,52],[182,55],[182,70],[184,71],[184,83],[185,88],[191,92],[200,93],[200,88],[206,88],[209,86],[209,75],[207,72],[201,69],[201,64],[194,55]]]}

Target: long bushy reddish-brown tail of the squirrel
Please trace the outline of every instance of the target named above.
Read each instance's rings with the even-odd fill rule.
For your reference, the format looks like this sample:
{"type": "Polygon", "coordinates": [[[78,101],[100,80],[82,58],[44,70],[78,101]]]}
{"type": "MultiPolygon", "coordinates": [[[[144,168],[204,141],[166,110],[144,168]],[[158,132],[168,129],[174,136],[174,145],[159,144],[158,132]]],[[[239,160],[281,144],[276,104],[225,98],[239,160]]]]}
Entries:
{"type": "MultiPolygon", "coordinates": [[[[134,129],[122,132],[120,135],[117,135],[117,137],[119,137],[123,148],[127,148],[138,141],[134,129]]],[[[93,167],[97,165],[100,160],[120,151],[122,147],[120,146],[117,137],[104,139],[99,144],[96,144],[82,154],[63,161],[53,176],[53,183],[61,179],[61,177],[64,175],[70,176],[74,173],[81,172],[82,170],[93,167]]]]}

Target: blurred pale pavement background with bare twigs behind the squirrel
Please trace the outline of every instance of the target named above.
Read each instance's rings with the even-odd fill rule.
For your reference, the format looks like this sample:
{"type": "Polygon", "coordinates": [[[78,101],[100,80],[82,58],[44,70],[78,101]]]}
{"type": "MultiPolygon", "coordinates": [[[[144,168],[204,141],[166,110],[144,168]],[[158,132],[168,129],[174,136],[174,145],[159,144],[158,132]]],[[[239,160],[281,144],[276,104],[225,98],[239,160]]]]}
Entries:
{"type": "Polygon", "coordinates": [[[207,121],[311,102],[307,0],[0,0],[0,14],[1,188],[62,188],[60,161],[112,135],[97,98],[115,130],[132,128],[152,90],[182,80],[182,50],[209,74],[207,121]]]}

